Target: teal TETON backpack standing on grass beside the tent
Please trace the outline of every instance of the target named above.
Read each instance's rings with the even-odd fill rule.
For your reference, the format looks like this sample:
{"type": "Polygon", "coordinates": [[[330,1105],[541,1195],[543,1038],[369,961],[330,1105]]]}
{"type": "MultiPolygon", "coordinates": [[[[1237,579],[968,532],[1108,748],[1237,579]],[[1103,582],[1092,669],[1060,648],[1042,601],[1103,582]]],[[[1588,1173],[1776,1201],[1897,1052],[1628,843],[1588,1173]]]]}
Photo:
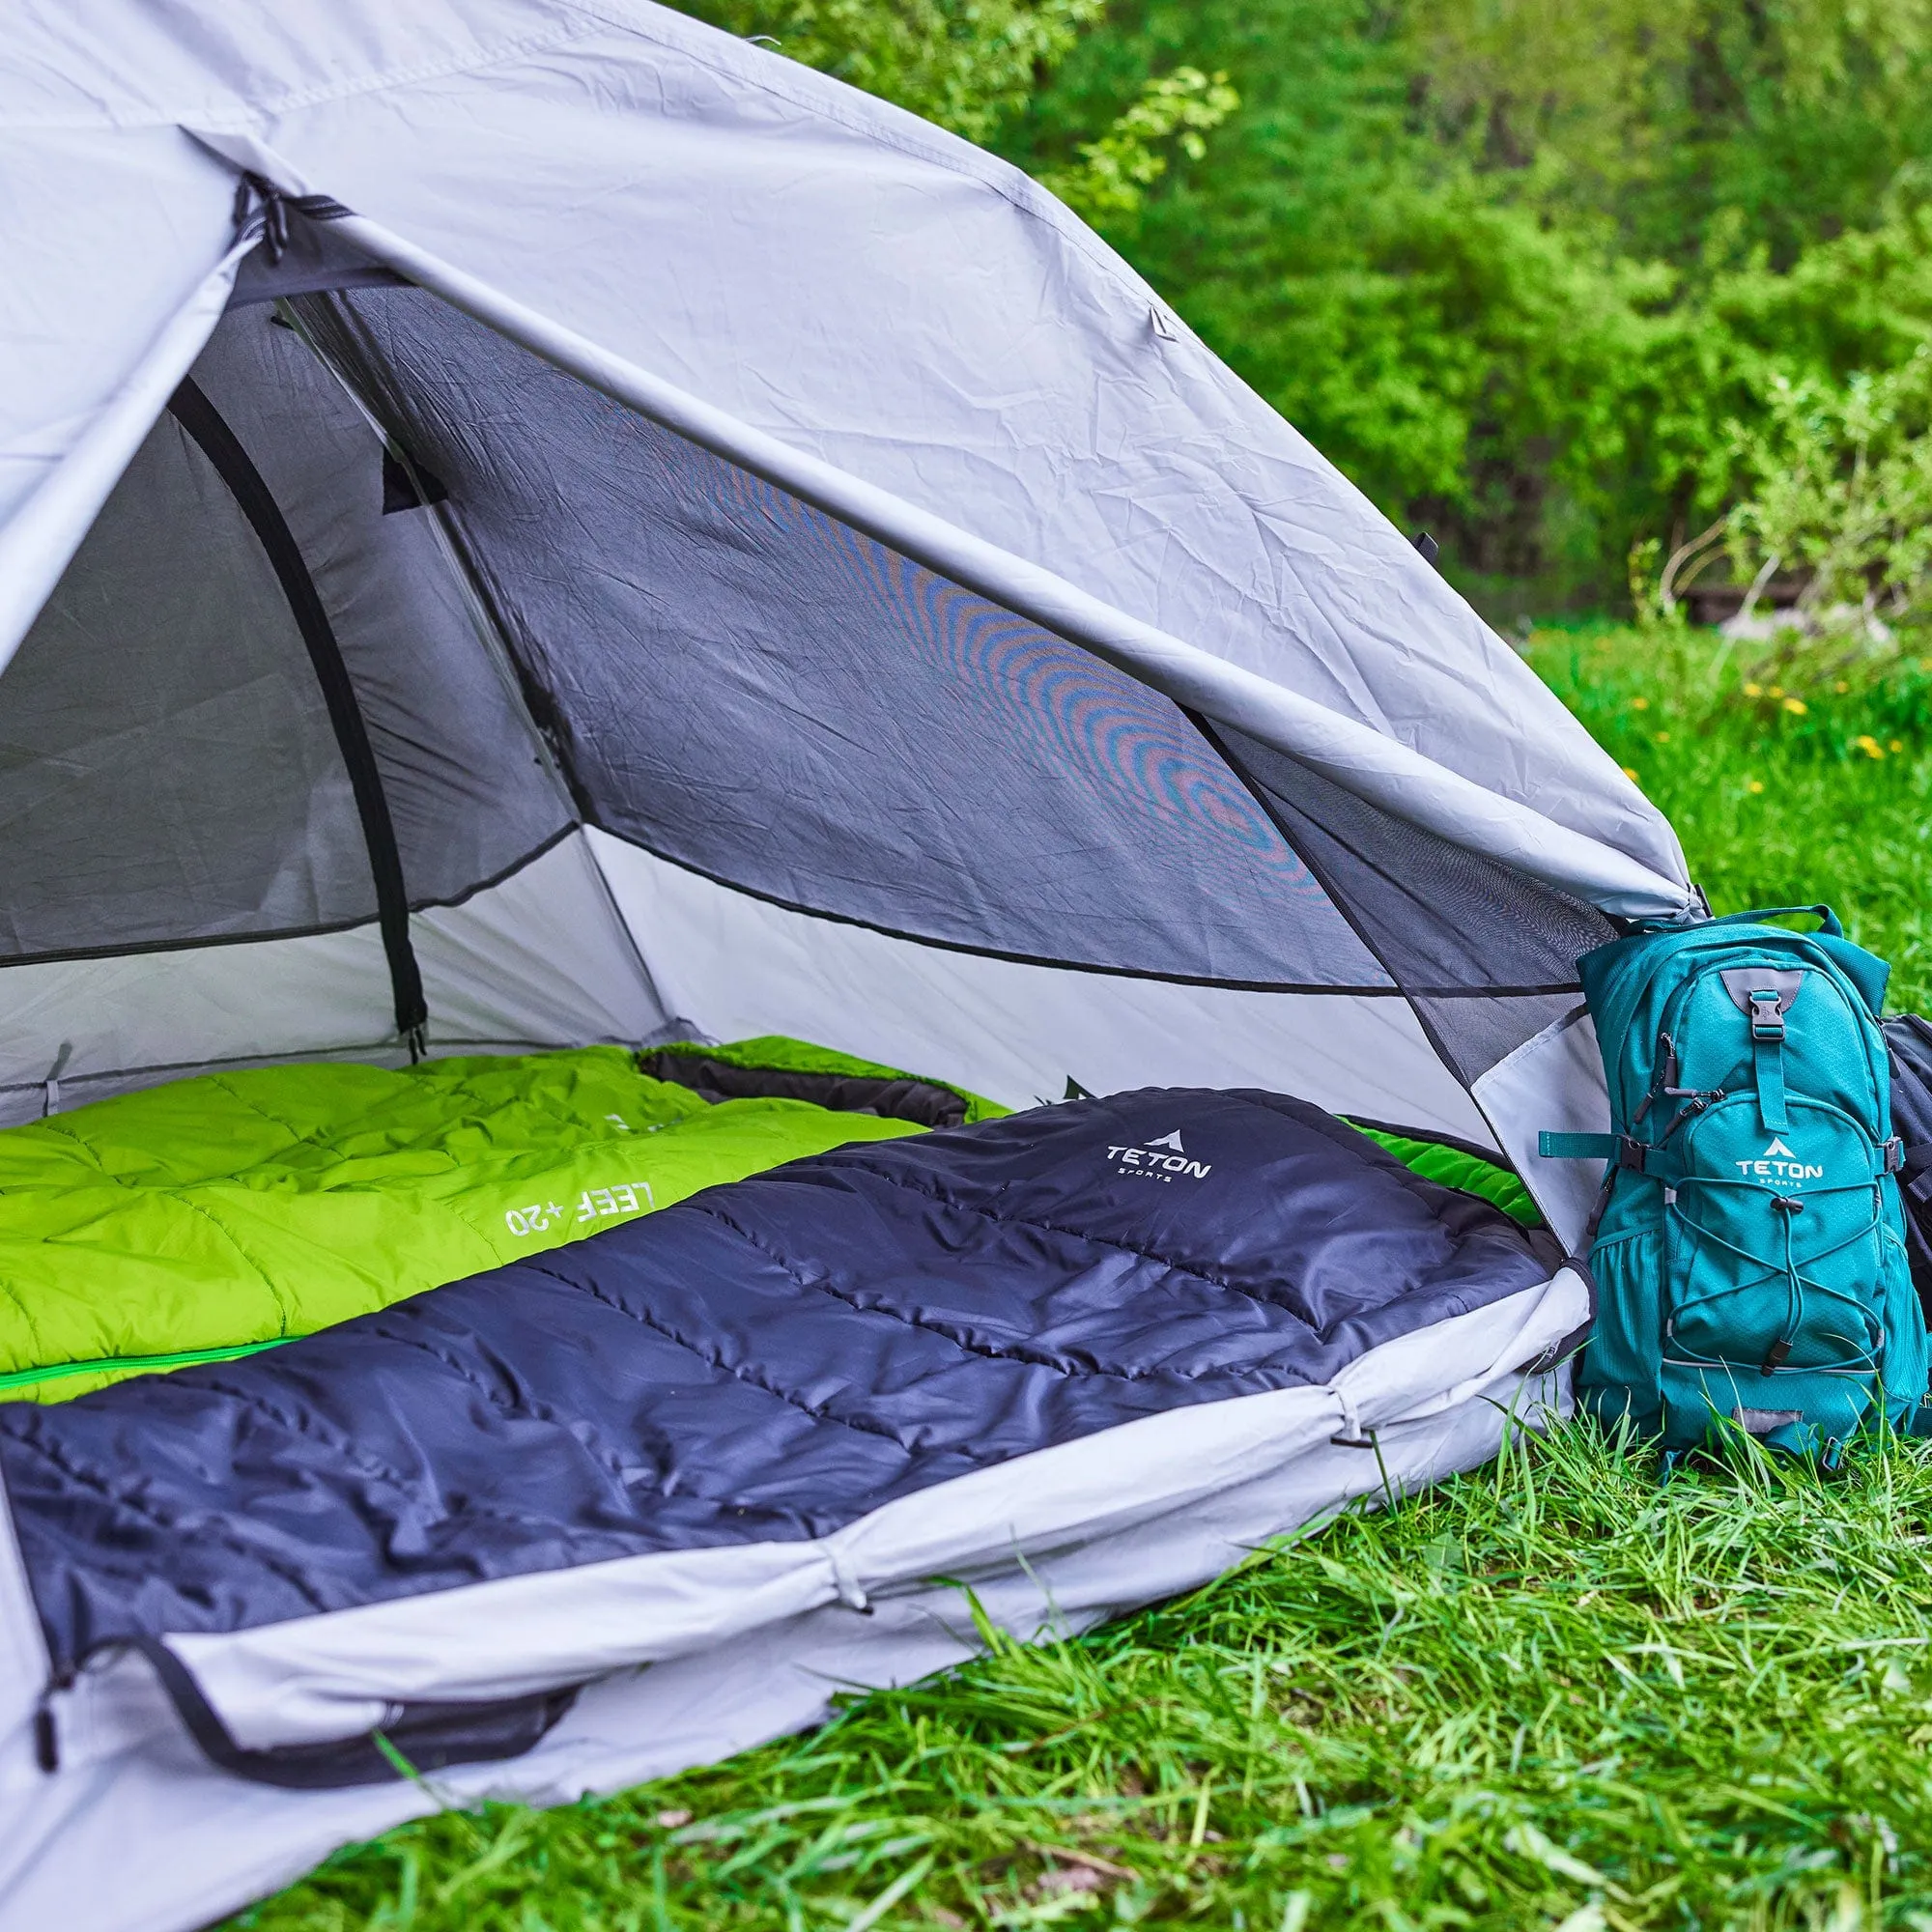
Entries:
{"type": "Polygon", "coordinates": [[[1582,1405],[1667,1451],[1727,1418],[1830,1468],[1880,1408],[1918,1432],[1926,1327],[1893,1180],[1889,968],[1826,906],[1774,910],[1822,929],[1739,912],[1577,962],[1611,1132],[1540,1151],[1609,1163],[1582,1405]]]}

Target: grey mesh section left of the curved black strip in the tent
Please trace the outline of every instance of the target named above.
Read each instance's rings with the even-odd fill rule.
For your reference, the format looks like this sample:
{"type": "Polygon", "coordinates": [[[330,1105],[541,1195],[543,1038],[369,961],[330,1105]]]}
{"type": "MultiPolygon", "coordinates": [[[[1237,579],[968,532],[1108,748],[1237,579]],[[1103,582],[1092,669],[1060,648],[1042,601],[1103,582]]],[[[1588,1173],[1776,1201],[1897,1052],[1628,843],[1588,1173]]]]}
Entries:
{"type": "Polygon", "coordinates": [[[162,417],[0,678],[0,958],[373,914],[288,601],[162,417]]]}

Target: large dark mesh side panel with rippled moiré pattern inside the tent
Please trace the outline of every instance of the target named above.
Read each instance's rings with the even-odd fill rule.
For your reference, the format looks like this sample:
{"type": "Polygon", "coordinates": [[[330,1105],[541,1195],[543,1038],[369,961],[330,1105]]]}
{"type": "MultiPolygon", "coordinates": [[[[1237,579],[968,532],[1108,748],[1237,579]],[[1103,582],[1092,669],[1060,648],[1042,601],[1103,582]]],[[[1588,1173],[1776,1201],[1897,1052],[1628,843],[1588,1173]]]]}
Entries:
{"type": "Polygon", "coordinates": [[[974,951],[1389,989],[1165,697],[417,290],[296,307],[448,487],[607,831],[974,951]]]}

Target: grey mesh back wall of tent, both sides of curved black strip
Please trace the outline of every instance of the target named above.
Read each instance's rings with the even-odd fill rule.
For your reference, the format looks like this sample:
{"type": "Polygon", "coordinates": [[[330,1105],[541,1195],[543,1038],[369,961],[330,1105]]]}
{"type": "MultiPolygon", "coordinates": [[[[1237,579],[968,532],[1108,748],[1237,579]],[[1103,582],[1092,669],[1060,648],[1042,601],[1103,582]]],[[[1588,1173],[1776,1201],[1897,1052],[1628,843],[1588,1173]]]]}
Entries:
{"type": "MultiPolygon", "coordinates": [[[[232,313],[195,381],[315,580],[410,898],[452,900],[574,811],[427,514],[383,514],[383,439],[269,317],[232,313]]],[[[375,914],[284,589],[228,485],[162,417],[0,680],[0,960],[375,914]]]]}

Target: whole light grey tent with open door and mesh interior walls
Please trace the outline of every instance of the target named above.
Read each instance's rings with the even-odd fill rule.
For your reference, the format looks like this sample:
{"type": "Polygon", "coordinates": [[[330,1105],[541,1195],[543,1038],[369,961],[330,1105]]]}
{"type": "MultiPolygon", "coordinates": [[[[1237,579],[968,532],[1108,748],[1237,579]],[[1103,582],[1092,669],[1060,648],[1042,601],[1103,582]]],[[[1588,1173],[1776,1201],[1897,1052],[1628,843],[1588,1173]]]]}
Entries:
{"type": "MultiPolygon", "coordinates": [[[[1575,960],[1690,912],[1669,827],[1032,182],[647,0],[17,0],[0,176],[0,1124],[784,1034],[1014,1109],[1298,1095],[1575,1238],[1528,1151],[1602,1122],[1575,960]]],[[[1188,1586],[1379,1482],[1331,1447],[1378,1414],[1389,1480],[1490,1455],[1580,1308],[1372,1349],[1352,1435],[1208,1403],[77,1685],[0,1511],[0,1926],[203,1924],[439,1795],[808,1723],[964,1654],[918,1578],[1020,1631],[1188,1586]],[[170,1669],[261,1752],[578,1694],[433,1791],[292,1789],[170,1669]]]]}

